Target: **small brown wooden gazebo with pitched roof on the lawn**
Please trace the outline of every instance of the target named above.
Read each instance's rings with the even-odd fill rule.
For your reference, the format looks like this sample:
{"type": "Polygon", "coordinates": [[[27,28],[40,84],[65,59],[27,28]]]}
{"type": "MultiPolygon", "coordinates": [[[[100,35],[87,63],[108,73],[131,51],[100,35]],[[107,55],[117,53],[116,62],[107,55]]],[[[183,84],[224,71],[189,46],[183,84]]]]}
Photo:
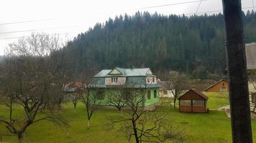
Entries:
{"type": "Polygon", "coordinates": [[[206,113],[207,112],[207,100],[205,94],[197,92],[194,89],[188,90],[185,94],[178,97],[179,100],[179,111],[180,112],[196,112],[206,113]]]}

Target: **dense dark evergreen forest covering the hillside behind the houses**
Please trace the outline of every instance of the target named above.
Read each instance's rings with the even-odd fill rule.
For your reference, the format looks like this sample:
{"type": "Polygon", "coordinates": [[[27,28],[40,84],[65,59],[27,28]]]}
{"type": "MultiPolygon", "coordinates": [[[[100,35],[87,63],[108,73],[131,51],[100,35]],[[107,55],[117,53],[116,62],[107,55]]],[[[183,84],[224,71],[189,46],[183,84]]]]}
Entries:
{"type": "MultiPolygon", "coordinates": [[[[245,42],[256,41],[256,14],[244,16],[245,42]]],[[[222,74],[226,68],[224,16],[177,16],[137,12],[116,16],[78,34],[63,52],[70,71],[150,67],[183,71],[196,78],[222,74]]],[[[74,72],[75,71],[75,72],[74,72]]]]}

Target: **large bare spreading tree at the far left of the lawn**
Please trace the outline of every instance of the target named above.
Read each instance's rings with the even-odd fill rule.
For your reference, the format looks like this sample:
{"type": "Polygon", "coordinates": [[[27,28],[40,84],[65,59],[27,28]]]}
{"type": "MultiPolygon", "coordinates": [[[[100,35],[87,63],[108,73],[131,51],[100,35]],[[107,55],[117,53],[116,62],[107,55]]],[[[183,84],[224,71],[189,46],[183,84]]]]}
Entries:
{"type": "Polygon", "coordinates": [[[27,127],[48,120],[67,127],[64,119],[50,105],[58,104],[62,95],[63,64],[57,36],[32,34],[10,44],[9,53],[0,74],[0,91],[4,96],[8,116],[0,114],[0,122],[15,134],[19,142],[27,127]],[[17,111],[17,106],[23,112],[17,111]],[[42,110],[47,109],[47,110],[42,110]],[[39,113],[40,116],[37,116],[39,113]]]}

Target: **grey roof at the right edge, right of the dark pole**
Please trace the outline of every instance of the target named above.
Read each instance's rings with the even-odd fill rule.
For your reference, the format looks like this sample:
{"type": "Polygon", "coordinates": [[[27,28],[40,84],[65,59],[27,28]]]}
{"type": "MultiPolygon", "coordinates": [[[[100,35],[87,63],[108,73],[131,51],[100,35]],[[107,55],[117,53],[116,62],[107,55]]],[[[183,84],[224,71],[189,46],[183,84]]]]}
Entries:
{"type": "Polygon", "coordinates": [[[245,44],[247,69],[256,69],[256,43],[245,44]]]}

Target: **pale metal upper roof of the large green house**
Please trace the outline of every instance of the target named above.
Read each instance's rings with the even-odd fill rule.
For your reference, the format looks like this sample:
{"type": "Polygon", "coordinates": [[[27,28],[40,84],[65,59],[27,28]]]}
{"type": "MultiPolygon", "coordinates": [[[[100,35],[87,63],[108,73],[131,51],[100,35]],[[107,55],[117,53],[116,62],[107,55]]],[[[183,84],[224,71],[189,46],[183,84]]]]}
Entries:
{"type": "Polygon", "coordinates": [[[132,68],[132,69],[124,69],[116,67],[121,74],[110,74],[111,71],[114,69],[103,69],[98,74],[96,74],[94,77],[145,77],[145,76],[153,76],[155,77],[150,68],[132,68]]]}

